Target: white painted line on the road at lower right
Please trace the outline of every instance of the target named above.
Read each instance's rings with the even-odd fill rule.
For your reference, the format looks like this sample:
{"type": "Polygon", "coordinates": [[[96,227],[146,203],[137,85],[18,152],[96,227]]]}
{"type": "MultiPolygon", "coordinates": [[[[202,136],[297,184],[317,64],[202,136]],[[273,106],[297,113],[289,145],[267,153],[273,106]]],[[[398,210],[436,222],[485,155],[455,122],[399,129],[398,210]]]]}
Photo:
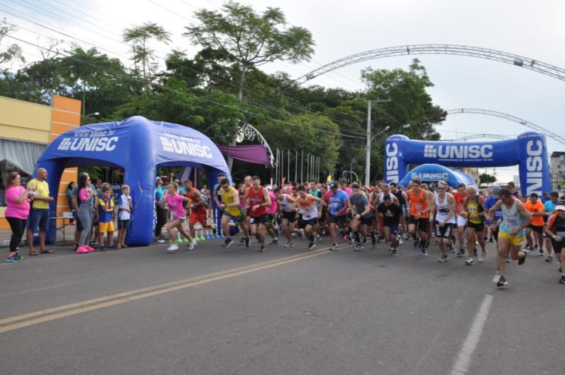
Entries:
{"type": "Polygon", "coordinates": [[[490,294],[484,296],[480,309],[472,322],[467,338],[465,338],[465,341],[463,342],[463,347],[461,347],[461,351],[457,357],[457,362],[453,365],[451,375],[462,375],[469,370],[471,357],[473,352],[475,352],[475,348],[479,344],[484,324],[487,323],[487,318],[492,307],[492,299],[493,297],[490,294]]]}

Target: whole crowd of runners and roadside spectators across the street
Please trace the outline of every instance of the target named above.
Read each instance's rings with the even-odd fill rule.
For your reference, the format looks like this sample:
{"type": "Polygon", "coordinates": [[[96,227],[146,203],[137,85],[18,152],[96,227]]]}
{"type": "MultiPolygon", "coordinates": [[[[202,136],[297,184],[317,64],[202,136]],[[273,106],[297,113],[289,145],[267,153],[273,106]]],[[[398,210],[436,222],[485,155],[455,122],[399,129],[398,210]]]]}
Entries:
{"type": "MultiPolygon", "coordinates": [[[[47,203],[53,199],[45,182],[47,171],[40,169],[26,188],[20,185],[17,173],[10,177],[6,216],[13,236],[6,261],[21,261],[18,246],[26,225],[30,255],[37,255],[34,232],[40,233],[40,253],[52,253],[44,245],[47,203]]],[[[129,190],[129,186],[121,186],[121,193],[112,197],[109,184],[91,184],[86,173],[81,173],[78,184],[69,186],[69,204],[76,214],[77,253],[127,247],[129,220],[135,215],[129,190]]],[[[455,256],[464,257],[465,264],[472,266],[487,258],[488,241],[497,244],[499,287],[508,284],[506,264],[512,259],[522,265],[528,254],[544,256],[548,263],[553,263],[555,256],[561,266],[559,282],[565,284],[565,256],[561,257],[565,196],[552,192],[523,197],[513,183],[494,185],[487,191],[465,184],[452,189],[445,181],[424,184],[417,179],[406,188],[385,181],[372,186],[345,181],[265,186],[259,177],[247,176],[233,186],[220,174],[218,184],[208,191],[196,189],[192,181],[170,181],[163,186],[162,179],[157,178],[155,213],[154,240],[167,241],[162,234],[165,227],[170,243],[167,250],[171,252],[179,249],[178,242],[188,242],[189,249],[194,249],[198,227],[225,238],[224,247],[231,246],[234,234],[241,232],[241,244],[250,247],[256,241],[261,252],[279,245],[281,236],[281,245],[286,248],[297,246],[295,239],[301,239],[307,249],[314,249],[328,236],[332,251],[340,249],[340,244],[355,244],[353,249],[361,251],[370,241],[371,246],[386,244],[391,256],[399,256],[403,243],[410,240],[412,246],[404,247],[412,247],[422,257],[429,256],[434,244],[439,249],[439,263],[455,256]]]]}

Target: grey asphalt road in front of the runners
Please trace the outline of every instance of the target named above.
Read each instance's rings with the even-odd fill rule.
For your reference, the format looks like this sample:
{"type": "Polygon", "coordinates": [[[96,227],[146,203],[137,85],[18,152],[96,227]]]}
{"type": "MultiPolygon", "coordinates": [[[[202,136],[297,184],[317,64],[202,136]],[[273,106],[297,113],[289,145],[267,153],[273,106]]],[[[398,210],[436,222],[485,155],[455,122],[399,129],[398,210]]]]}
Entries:
{"type": "Polygon", "coordinates": [[[219,245],[0,265],[0,374],[565,373],[557,264],[219,245]]]}

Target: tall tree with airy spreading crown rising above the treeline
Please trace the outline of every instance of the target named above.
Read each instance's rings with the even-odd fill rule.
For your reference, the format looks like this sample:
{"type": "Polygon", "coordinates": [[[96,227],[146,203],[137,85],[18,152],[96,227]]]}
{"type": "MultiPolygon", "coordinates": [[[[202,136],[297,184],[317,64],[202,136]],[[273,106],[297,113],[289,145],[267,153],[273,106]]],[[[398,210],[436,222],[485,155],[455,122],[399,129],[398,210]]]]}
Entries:
{"type": "Polygon", "coordinates": [[[201,25],[186,27],[183,34],[194,44],[219,49],[239,65],[239,100],[245,75],[256,66],[277,60],[308,61],[314,52],[309,30],[286,27],[280,8],[267,8],[259,15],[251,6],[228,1],[222,11],[203,9],[195,13],[201,25]]]}

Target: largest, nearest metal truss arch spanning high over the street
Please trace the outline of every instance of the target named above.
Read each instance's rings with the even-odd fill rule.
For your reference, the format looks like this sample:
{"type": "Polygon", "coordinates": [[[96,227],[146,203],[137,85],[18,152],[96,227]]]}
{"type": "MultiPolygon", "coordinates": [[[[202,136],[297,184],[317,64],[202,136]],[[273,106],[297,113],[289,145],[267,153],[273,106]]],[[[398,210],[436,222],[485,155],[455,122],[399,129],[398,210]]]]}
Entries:
{"type": "Polygon", "coordinates": [[[335,60],[329,64],[319,67],[314,71],[304,74],[297,78],[296,82],[302,84],[310,81],[324,73],[340,69],[343,66],[357,64],[361,61],[382,59],[383,57],[404,56],[409,54],[456,54],[460,56],[472,56],[480,59],[494,60],[520,66],[521,68],[530,69],[545,74],[553,78],[565,81],[565,69],[558,66],[545,64],[542,61],[530,59],[529,57],[520,56],[518,54],[510,54],[508,52],[496,51],[496,49],[488,49],[482,47],[460,46],[457,44],[412,44],[398,47],[386,47],[379,49],[371,49],[370,51],[352,54],[343,59],[335,60]]]}

